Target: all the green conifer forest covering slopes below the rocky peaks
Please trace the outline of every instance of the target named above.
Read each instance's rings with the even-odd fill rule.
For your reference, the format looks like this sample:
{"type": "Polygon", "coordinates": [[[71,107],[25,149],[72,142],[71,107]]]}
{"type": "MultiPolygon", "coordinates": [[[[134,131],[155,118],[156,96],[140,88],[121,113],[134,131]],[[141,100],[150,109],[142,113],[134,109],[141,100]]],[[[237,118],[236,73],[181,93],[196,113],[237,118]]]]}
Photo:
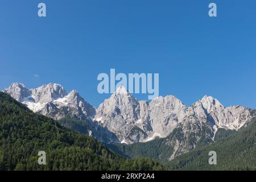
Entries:
{"type": "Polygon", "coordinates": [[[0,170],[256,170],[256,119],[239,131],[220,129],[214,143],[170,162],[164,139],[105,146],[85,135],[86,123],[59,122],[0,92],[0,170]],[[46,165],[38,164],[39,151],[46,152],[46,165]],[[209,165],[209,151],[216,151],[217,165],[209,165]]]}

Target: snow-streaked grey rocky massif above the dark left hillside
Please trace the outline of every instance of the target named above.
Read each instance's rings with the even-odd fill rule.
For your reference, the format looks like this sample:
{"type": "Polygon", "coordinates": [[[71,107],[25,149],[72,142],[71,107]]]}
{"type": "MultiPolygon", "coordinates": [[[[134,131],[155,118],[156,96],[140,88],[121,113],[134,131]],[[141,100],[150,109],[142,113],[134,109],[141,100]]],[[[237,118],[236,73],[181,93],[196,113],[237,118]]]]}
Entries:
{"type": "Polygon", "coordinates": [[[26,89],[24,84],[14,83],[3,92],[27,105],[35,113],[47,115],[53,119],[66,116],[90,119],[96,114],[96,109],[76,90],[67,94],[64,87],[56,83],[44,84],[35,89],[26,89]]]}

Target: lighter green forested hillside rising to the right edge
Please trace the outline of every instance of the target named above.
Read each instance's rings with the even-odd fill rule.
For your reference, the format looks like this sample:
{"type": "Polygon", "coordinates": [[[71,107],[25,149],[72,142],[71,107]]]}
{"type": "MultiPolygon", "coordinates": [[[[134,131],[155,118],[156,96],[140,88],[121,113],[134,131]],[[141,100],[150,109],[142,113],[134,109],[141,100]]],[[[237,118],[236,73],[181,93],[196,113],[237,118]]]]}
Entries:
{"type": "Polygon", "coordinates": [[[178,156],[168,163],[168,167],[183,170],[256,170],[256,119],[236,133],[225,133],[217,139],[210,146],[178,156]],[[217,165],[209,165],[209,151],[216,151],[217,165]]]}

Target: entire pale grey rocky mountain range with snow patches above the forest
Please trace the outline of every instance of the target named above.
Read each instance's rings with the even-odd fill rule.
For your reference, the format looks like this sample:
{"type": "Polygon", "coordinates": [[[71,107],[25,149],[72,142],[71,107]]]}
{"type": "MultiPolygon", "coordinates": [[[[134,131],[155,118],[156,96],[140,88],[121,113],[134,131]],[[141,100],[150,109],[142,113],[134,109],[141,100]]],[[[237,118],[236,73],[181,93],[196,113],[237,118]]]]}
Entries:
{"type": "Polygon", "coordinates": [[[202,140],[206,144],[213,142],[218,129],[239,130],[255,117],[252,109],[224,107],[210,96],[191,106],[185,106],[174,96],[138,101],[123,86],[97,110],[76,90],[67,93],[59,84],[27,89],[23,84],[14,83],[3,92],[35,113],[56,120],[70,117],[88,122],[89,135],[102,142],[131,144],[167,138],[166,144],[174,150],[170,160],[191,151],[202,140]]]}

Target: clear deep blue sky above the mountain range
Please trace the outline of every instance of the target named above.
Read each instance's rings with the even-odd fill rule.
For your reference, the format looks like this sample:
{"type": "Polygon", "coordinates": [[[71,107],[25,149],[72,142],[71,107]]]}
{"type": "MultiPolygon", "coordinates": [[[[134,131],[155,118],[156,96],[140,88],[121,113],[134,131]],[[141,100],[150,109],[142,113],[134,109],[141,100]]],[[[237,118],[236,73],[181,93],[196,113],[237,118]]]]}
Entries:
{"type": "Polygon", "coordinates": [[[186,105],[210,95],[256,109],[256,1],[1,0],[0,65],[1,90],[57,82],[96,107],[109,97],[97,75],[115,68],[159,73],[160,95],[186,105]]]}

